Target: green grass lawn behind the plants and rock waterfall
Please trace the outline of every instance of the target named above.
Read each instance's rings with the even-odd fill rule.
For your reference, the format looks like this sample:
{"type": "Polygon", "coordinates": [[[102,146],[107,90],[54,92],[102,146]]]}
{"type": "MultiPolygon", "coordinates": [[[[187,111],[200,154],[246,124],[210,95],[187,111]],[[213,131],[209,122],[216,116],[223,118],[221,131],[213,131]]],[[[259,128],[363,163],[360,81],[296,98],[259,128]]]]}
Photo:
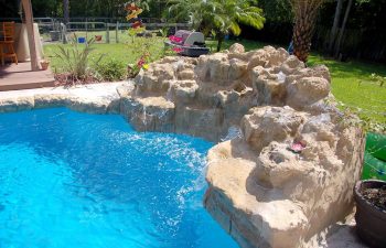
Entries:
{"type": "MultiPolygon", "coordinates": [[[[95,44],[95,52],[92,55],[92,60],[95,60],[100,54],[106,54],[107,57],[119,60],[128,64],[135,63],[140,56],[138,44],[141,44],[141,42],[143,42],[143,37],[136,37],[135,43],[137,45],[132,45],[130,41],[126,44],[95,44]]],[[[223,48],[228,48],[235,41],[225,41],[223,48]]],[[[247,51],[260,48],[266,45],[260,42],[246,40],[239,41],[239,43],[244,44],[247,51]]],[[[207,45],[211,47],[211,51],[215,51],[215,41],[207,41],[207,45]]],[[[161,55],[159,51],[162,47],[163,40],[156,39],[150,47],[152,60],[159,58],[161,55]]],[[[52,67],[60,71],[62,62],[54,55],[55,52],[57,52],[57,45],[44,45],[44,52],[51,61],[52,67]]],[[[371,75],[373,73],[386,77],[386,65],[356,61],[342,63],[323,58],[317,54],[311,54],[309,65],[312,66],[318,64],[324,64],[330,68],[332,76],[332,93],[337,100],[360,110],[363,117],[386,123],[386,85],[380,87],[371,80],[371,75]],[[360,82],[362,83],[360,84],[360,82]]]]}

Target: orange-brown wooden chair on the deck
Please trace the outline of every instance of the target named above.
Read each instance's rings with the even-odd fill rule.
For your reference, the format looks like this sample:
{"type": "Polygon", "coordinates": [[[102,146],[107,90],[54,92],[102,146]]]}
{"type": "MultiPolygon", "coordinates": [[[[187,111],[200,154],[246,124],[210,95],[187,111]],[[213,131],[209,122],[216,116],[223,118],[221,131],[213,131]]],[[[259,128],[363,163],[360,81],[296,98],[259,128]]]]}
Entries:
{"type": "Polygon", "coordinates": [[[13,48],[14,22],[3,22],[1,33],[2,33],[1,35],[2,37],[0,40],[1,64],[2,65],[4,64],[4,58],[11,58],[12,62],[18,64],[18,55],[13,48]]]}

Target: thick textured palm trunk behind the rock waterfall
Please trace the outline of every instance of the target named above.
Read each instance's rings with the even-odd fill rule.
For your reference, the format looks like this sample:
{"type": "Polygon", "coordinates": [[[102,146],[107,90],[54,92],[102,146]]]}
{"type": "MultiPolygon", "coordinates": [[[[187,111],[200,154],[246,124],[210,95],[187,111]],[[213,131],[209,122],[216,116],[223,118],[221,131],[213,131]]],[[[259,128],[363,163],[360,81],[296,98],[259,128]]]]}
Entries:
{"type": "Polygon", "coordinates": [[[293,54],[302,62],[307,62],[311,50],[318,11],[324,0],[291,0],[294,13],[293,54]]]}

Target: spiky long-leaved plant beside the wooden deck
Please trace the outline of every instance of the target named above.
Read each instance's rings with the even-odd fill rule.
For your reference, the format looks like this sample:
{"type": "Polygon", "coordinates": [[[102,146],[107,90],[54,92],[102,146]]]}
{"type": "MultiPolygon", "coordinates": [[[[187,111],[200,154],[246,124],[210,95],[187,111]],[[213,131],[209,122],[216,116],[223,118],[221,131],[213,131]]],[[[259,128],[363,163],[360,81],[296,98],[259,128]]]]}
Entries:
{"type": "MultiPolygon", "coordinates": [[[[58,46],[58,51],[55,52],[55,56],[62,61],[62,69],[73,80],[85,80],[87,77],[93,76],[93,69],[89,67],[89,55],[93,52],[92,44],[94,39],[89,39],[85,44],[77,43],[77,36],[74,36],[71,46],[58,46]]],[[[103,55],[95,61],[98,64],[103,55]]]]}

